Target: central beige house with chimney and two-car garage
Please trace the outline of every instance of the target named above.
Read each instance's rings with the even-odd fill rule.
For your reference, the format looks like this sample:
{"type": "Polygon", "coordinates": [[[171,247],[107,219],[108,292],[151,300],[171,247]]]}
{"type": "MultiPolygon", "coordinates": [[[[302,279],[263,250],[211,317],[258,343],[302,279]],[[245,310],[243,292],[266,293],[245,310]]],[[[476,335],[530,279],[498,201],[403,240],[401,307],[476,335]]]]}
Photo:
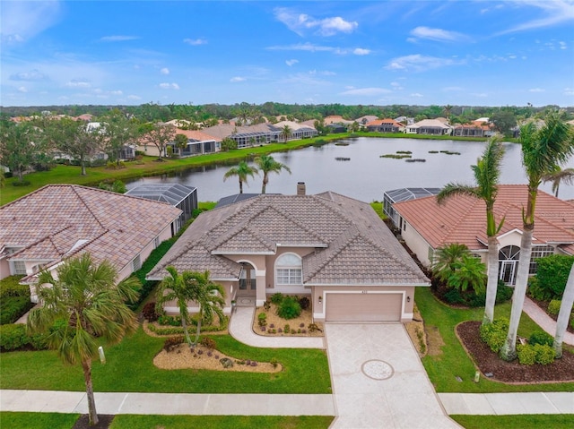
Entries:
{"type": "MultiPolygon", "coordinates": [[[[309,296],[315,321],[410,321],[415,287],[430,285],[365,202],[337,193],[261,194],[202,213],[148,274],[209,270],[230,301],[309,296]]],[[[189,303],[194,311],[193,303],[189,303]]],[[[168,313],[178,313],[172,302],[168,313]]]]}

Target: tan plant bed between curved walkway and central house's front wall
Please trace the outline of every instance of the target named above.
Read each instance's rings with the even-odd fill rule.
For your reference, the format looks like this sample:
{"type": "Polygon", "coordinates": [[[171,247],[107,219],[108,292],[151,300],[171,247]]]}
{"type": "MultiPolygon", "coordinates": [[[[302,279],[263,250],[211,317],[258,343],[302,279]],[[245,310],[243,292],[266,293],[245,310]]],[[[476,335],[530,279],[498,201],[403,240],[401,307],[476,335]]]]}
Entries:
{"type": "Polygon", "coordinates": [[[277,306],[271,304],[269,310],[264,307],[257,307],[255,317],[253,318],[253,331],[258,335],[267,337],[323,337],[325,328],[323,323],[315,323],[319,330],[311,332],[309,324],[313,323],[311,309],[301,310],[300,316],[294,319],[283,319],[277,315],[277,306]],[[265,313],[265,330],[259,326],[258,316],[265,313]],[[285,325],[289,325],[289,333],[285,332],[285,325]],[[294,331],[293,331],[294,330],[294,331]]]}

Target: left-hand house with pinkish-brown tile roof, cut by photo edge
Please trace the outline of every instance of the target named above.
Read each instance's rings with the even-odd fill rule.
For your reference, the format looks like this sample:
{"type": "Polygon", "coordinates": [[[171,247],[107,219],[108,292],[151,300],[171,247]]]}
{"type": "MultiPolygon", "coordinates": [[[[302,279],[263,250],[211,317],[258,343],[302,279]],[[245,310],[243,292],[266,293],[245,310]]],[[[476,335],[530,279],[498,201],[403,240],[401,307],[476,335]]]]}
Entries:
{"type": "Polygon", "coordinates": [[[181,210],[77,184],[48,184],[0,207],[0,279],[55,270],[67,258],[90,253],[109,260],[118,279],[139,270],[160,243],[178,232],[181,210]]]}

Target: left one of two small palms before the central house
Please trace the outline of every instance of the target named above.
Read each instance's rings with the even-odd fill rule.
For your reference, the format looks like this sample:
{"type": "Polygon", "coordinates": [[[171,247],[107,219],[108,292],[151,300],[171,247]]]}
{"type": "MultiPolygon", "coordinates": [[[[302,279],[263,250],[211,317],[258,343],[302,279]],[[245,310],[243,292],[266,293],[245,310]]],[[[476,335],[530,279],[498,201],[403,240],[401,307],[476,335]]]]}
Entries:
{"type": "Polygon", "coordinates": [[[187,344],[191,347],[191,338],[187,330],[187,320],[189,313],[187,312],[187,301],[194,301],[196,299],[195,291],[190,287],[192,283],[191,271],[183,271],[181,274],[175,267],[169,266],[166,270],[170,273],[169,277],[161,280],[160,286],[157,291],[156,306],[158,311],[163,311],[163,305],[168,301],[176,301],[179,307],[179,316],[181,317],[181,327],[186,335],[187,344]]]}

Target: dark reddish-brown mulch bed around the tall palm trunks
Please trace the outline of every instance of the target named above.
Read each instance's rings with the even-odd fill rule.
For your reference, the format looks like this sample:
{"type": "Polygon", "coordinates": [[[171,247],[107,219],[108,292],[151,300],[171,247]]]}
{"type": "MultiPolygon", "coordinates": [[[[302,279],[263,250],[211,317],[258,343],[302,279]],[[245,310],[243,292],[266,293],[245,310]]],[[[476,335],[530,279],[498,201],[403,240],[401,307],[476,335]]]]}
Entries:
{"type": "Polygon", "coordinates": [[[517,359],[506,362],[480,339],[480,326],[481,322],[462,322],[457,326],[457,335],[481,373],[493,374],[491,380],[514,383],[574,381],[574,355],[568,350],[563,350],[562,358],[550,365],[520,365],[517,359]]]}

